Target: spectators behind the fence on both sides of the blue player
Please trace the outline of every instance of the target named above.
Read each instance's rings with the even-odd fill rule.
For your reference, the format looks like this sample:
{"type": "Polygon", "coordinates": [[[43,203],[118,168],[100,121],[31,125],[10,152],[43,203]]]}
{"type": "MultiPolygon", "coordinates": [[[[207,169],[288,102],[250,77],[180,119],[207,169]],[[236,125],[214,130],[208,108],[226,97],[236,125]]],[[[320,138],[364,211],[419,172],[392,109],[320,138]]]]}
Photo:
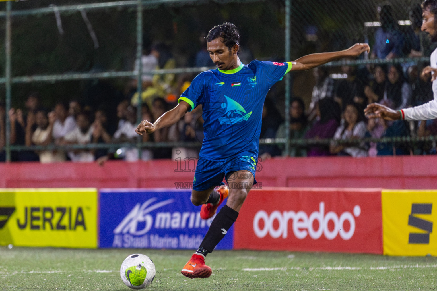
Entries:
{"type": "MultiPolygon", "coordinates": [[[[316,86],[312,90],[309,106],[306,107],[304,100],[299,97],[293,97],[290,102],[290,126],[288,128],[290,138],[332,139],[330,144],[292,146],[289,152],[284,152],[281,147],[275,145],[261,145],[261,159],[285,155],[374,157],[436,153],[435,144],[429,143],[414,146],[405,143],[365,143],[362,141],[350,144],[337,143],[336,140],[360,140],[363,137],[424,137],[437,134],[437,120],[419,123],[403,120],[394,122],[381,119],[367,120],[363,113],[365,106],[371,102],[379,102],[393,109],[399,109],[420,105],[432,99],[430,75],[421,76],[417,65],[406,66],[405,71],[400,65],[375,65],[363,68],[344,65],[341,69],[347,78],[332,79],[327,68],[313,69],[316,86]]],[[[153,83],[150,79],[144,82],[153,83]]],[[[163,82],[163,84],[167,83],[163,82]]],[[[189,86],[189,79],[181,84],[178,88],[179,94],[189,86]],[[187,84],[184,85],[185,82],[187,84]]],[[[156,89],[153,85],[147,86],[143,94],[150,87],[156,89]]],[[[76,149],[68,152],[60,150],[13,151],[13,161],[103,162],[112,158],[137,161],[139,153],[135,144],[138,139],[154,142],[201,142],[203,120],[200,106],[186,113],[184,118],[172,127],[139,137],[135,133],[138,116],[136,106],[138,100],[135,102],[135,94],[133,93],[131,98],[123,99],[118,103],[115,113],[101,108],[93,109],[90,106],[82,106],[77,100],[71,100],[69,103],[59,102],[47,110],[40,106],[41,99],[37,92],[29,94],[23,110],[12,108],[6,113],[4,104],[0,104],[0,146],[3,147],[5,144],[5,114],[9,115],[10,143],[14,145],[131,144],[131,146],[113,149],[76,149]],[[117,118],[108,118],[113,115],[117,118]]],[[[143,99],[142,120],[154,122],[177,102],[176,97],[171,97],[171,94],[151,96],[153,99],[152,97],[143,99]]],[[[286,130],[277,104],[272,98],[267,97],[262,114],[260,138],[284,138],[286,130]]],[[[4,160],[4,151],[0,155],[0,158],[4,160]]],[[[174,159],[175,155],[197,157],[198,149],[157,147],[144,149],[141,153],[143,160],[174,159]]]]}

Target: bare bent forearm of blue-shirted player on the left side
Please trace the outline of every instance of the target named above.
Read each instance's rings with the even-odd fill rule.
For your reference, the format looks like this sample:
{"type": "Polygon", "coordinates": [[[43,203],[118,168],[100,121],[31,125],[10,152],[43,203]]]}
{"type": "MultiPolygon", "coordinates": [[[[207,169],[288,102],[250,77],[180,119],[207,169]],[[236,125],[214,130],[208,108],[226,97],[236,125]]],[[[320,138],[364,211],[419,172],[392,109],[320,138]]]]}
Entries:
{"type": "Polygon", "coordinates": [[[153,132],[161,128],[170,127],[174,123],[177,123],[182,118],[182,116],[184,116],[185,113],[187,113],[187,111],[190,109],[191,105],[181,100],[176,107],[161,115],[154,123],[143,120],[138,125],[135,132],[139,135],[142,135],[143,133],[152,134],[153,132]]]}

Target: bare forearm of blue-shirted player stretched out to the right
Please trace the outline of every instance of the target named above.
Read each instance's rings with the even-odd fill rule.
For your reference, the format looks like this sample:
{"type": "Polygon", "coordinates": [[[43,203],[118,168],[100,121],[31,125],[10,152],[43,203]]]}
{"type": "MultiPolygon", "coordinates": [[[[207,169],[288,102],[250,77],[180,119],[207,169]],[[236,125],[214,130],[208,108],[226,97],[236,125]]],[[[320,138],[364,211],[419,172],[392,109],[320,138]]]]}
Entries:
{"type": "Polygon", "coordinates": [[[343,51],[322,52],[319,54],[305,55],[302,58],[298,58],[292,62],[293,66],[291,67],[291,71],[309,70],[319,65],[326,64],[327,62],[335,61],[339,58],[356,57],[361,55],[364,51],[370,51],[368,44],[355,44],[343,51]]]}

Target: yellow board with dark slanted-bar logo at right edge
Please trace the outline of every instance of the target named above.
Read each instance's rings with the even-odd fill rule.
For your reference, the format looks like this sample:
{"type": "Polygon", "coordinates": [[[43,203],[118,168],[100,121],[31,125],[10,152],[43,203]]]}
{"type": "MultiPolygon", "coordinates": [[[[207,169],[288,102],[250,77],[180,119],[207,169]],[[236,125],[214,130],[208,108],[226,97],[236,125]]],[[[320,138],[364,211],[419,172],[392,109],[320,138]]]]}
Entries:
{"type": "Polygon", "coordinates": [[[393,256],[437,256],[436,190],[382,190],[383,251],[393,256]]]}

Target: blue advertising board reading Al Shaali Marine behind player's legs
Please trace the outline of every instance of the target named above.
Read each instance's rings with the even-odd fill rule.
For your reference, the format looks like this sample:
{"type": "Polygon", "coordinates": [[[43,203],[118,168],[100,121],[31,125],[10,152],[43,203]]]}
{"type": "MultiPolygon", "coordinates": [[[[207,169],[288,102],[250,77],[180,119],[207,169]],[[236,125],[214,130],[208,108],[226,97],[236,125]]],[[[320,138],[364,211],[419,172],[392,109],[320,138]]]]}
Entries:
{"type": "MultiPolygon", "coordinates": [[[[201,219],[190,196],[174,189],[101,189],[99,247],[197,249],[213,218],[201,219]]],[[[231,250],[233,237],[232,226],[215,249],[231,250]]]]}

